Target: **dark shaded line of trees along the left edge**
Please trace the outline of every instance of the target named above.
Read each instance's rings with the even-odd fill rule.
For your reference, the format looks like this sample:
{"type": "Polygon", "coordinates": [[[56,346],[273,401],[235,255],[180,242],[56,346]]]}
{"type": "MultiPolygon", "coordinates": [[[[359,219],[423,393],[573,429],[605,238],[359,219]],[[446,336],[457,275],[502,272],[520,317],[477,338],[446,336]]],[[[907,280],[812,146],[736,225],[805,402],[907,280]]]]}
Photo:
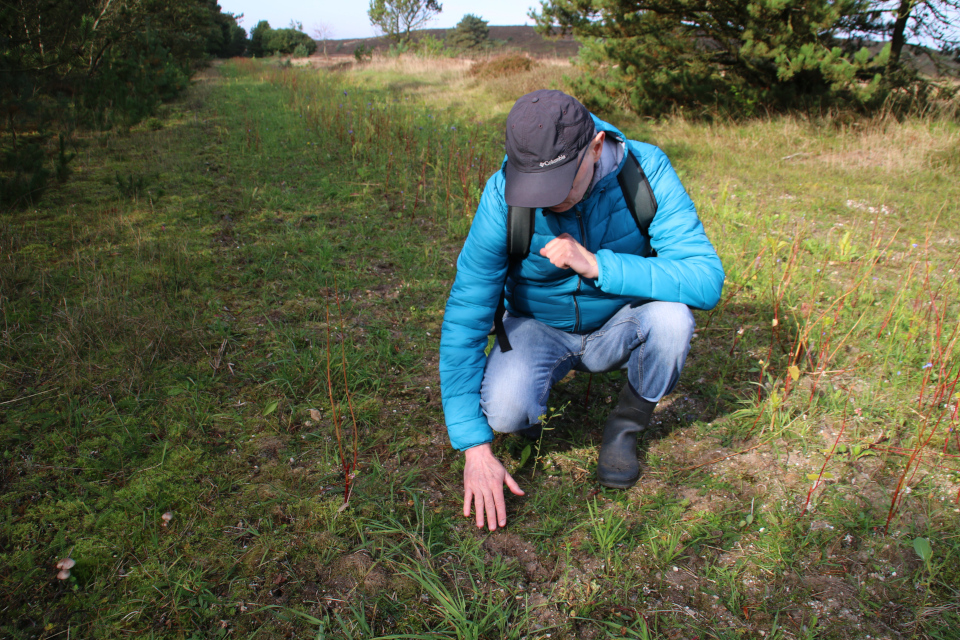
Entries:
{"type": "Polygon", "coordinates": [[[0,210],[67,179],[75,131],[140,122],[210,58],[316,50],[266,22],[251,42],[241,19],[216,0],[0,2],[0,210]]]}

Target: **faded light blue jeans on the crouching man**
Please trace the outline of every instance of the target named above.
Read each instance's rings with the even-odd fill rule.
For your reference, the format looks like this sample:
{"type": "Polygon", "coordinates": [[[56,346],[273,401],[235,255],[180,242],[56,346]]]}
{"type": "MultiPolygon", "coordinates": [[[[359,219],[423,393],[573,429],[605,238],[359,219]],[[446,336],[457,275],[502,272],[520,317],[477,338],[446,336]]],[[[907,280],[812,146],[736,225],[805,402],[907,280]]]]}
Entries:
{"type": "Polygon", "coordinates": [[[521,431],[547,413],[550,388],[572,369],[603,373],[626,368],[631,388],[657,402],[673,391],[690,351],[694,320],[678,302],[624,306],[593,333],[566,333],[532,318],[506,314],[513,347],[499,343],[487,358],[480,407],[490,428],[521,431]]]}

